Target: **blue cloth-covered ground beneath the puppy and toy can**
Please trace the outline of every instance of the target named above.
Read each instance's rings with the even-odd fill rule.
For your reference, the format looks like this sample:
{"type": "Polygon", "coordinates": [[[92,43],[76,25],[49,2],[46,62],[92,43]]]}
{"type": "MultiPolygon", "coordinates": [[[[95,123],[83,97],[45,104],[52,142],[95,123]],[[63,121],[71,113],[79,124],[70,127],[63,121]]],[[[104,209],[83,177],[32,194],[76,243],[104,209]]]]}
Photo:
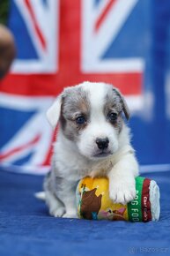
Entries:
{"type": "Polygon", "coordinates": [[[131,223],[53,218],[42,177],[0,171],[1,256],[170,255],[170,171],[148,173],[161,192],[159,222],[131,223]]]}

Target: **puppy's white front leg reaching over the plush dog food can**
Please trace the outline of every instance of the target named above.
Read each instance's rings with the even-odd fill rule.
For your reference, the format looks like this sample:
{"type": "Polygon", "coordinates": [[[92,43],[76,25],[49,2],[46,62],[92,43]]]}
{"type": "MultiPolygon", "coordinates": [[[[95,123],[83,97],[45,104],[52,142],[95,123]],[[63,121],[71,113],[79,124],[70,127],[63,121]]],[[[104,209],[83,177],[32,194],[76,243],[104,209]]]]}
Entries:
{"type": "Polygon", "coordinates": [[[109,196],[115,203],[127,204],[136,197],[138,164],[133,153],[124,154],[108,173],[109,196]]]}

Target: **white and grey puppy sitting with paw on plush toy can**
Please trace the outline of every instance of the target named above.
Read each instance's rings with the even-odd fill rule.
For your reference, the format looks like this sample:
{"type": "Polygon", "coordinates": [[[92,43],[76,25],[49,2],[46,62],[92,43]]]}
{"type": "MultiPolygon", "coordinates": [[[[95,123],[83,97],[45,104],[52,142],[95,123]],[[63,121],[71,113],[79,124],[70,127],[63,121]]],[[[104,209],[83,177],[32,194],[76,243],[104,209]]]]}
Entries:
{"type": "Polygon", "coordinates": [[[115,203],[136,197],[138,165],[122,113],[129,119],[119,90],[92,82],[65,88],[48,109],[49,124],[55,129],[59,123],[52,169],[44,182],[50,215],[77,217],[75,191],[85,176],[107,176],[115,203]]]}

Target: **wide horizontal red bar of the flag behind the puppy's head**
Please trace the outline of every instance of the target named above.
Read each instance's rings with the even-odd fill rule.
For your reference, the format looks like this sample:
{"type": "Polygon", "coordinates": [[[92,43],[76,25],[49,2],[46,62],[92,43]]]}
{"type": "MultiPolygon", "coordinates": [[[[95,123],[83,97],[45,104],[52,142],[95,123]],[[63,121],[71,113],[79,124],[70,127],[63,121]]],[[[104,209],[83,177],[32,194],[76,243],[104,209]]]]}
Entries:
{"type": "Polygon", "coordinates": [[[113,84],[115,87],[118,87],[124,95],[137,95],[142,93],[142,72],[122,72],[113,74],[92,73],[86,75],[76,73],[74,76],[70,74],[69,78],[70,79],[68,79],[68,76],[64,75],[64,73],[60,73],[60,75],[10,74],[0,81],[0,92],[23,96],[55,96],[63,91],[63,87],[70,87],[89,80],[113,84]]]}

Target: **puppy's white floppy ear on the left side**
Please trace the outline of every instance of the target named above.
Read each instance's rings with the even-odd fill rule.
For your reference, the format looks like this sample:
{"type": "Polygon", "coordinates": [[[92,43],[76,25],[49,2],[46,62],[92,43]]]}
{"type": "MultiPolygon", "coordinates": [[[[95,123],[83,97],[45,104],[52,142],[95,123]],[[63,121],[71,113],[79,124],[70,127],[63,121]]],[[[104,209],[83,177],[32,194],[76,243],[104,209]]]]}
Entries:
{"type": "Polygon", "coordinates": [[[51,126],[54,129],[60,118],[62,102],[63,102],[63,95],[60,94],[56,98],[53,105],[48,109],[46,114],[49,124],[51,124],[51,126]]]}

